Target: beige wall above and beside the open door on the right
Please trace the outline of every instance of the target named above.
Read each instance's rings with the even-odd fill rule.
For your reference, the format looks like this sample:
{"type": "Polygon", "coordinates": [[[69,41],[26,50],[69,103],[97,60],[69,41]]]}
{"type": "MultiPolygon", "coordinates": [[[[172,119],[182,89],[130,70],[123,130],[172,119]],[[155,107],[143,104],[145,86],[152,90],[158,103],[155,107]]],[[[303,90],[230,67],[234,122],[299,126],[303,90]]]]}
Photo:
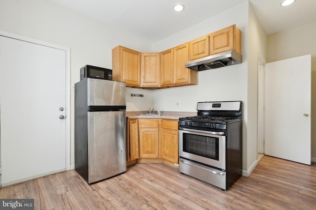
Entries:
{"type": "Polygon", "coordinates": [[[312,56],[312,157],[316,161],[316,22],[268,35],[267,62],[312,56]]]}

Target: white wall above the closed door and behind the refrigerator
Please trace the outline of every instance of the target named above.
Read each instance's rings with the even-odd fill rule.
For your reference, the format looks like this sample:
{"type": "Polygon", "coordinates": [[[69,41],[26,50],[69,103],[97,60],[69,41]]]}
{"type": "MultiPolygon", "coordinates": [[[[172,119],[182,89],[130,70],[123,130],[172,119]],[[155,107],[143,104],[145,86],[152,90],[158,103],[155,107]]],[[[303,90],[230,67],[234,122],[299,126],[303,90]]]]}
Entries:
{"type": "MultiPolygon", "coordinates": [[[[44,0],[0,0],[0,30],[71,48],[71,84],[79,82],[79,69],[86,64],[112,68],[112,49],[117,45],[137,51],[149,51],[151,47],[144,39],[107,28],[44,0]]],[[[145,104],[152,103],[151,94],[144,95],[146,98],[135,103],[135,108],[143,109],[145,104]]],[[[131,103],[133,100],[127,101],[127,106],[131,103]]],[[[71,164],[74,164],[74,90],[71,113],[71,164]]]]}

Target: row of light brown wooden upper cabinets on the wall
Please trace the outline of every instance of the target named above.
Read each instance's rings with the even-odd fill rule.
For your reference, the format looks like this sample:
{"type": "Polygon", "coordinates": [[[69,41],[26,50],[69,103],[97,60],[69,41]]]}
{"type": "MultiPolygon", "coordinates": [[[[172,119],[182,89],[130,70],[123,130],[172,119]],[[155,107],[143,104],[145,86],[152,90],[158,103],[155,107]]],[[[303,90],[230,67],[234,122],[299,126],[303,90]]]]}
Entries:
{"type": "Polygon", "coordinates": [[[197,85],[197,71],[185,68],[185,63],[228,50],[241,54],[241,32],[236,25],[161,53],[140,53],[118,46],[112,50],[113,80],[144,89],[197,85]]]}

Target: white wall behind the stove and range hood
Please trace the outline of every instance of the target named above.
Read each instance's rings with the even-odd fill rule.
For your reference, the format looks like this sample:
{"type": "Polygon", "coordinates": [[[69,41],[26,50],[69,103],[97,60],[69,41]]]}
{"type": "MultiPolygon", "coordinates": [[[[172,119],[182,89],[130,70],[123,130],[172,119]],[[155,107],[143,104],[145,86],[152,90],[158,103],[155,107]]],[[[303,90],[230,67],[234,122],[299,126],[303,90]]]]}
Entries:
{"type": "MultiPolygon", "coordinates": [[[[241,100],[243,102],[243,169],[247,170],[248,2],[245,1],[193,27],[154,43],[152,52],[167,50],[233,24],[236,24],[241,30],[242,63],[200,71],[198,72],[198,85],[195,86],[154,90],[153,105],[160,110],[195,112],[198,101],[241,100]]],[[[253,117],[251,116],[251,118],[253,117]]]]}

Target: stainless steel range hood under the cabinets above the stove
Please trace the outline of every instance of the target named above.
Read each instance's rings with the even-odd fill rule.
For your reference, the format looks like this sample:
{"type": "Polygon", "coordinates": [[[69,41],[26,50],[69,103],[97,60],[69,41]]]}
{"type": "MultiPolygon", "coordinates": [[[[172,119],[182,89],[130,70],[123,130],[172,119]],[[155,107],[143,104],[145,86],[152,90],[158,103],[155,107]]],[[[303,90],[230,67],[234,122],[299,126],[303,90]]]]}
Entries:
{"type": "Polygon", "coordinates": [[[208,70],[212,68],[220,68],[227,65],[241,63],[241,55],[235,50],[225,51],[204,58],[191,60],[185,64],[186,68],[191,68],[197,71],[208,70]]]}

